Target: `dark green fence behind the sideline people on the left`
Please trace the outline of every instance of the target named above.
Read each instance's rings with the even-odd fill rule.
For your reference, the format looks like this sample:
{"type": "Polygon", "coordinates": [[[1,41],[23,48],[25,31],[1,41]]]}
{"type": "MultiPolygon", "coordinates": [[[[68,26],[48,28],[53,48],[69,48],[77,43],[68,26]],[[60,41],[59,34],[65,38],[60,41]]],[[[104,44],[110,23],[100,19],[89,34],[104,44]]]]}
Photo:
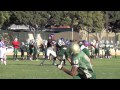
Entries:
{"type": "MultiPolygon", "coordinates": [[[[16,32],[16,31],[10,31],[10,30],[1,30],[0,35],[4,38],[7,45],[11,45],[11,42],[14,40],[14,38],[18,38],[20,42],[26,42],[26,40],[29,38],[28,34],[40,34],[42,39],[48,39],[51,32],[16,32]]],[[[34,37],[34,36],[33,36],[34,37]]]]}

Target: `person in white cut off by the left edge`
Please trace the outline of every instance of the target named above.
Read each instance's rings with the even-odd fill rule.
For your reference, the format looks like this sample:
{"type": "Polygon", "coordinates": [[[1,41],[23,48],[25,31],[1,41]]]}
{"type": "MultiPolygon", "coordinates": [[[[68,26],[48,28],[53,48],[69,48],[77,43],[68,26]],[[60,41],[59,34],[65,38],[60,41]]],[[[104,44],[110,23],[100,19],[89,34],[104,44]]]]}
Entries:
{"type": "Polygon", "coordinates": [[[6,62],[6,46],[2,37],[0,37],[0,59],[1,64],[7,65],[6,62]]]}

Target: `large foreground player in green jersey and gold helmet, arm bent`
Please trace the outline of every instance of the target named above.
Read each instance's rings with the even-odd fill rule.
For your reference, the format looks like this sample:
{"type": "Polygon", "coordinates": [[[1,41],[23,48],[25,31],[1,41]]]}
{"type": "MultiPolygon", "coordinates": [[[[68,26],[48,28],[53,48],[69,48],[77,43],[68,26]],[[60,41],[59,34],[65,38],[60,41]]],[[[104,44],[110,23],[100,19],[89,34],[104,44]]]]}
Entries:
{"type": "Polygon", "coordinates": [[[57,67],[68,75],[73,76],[74,79],[95,79],[96,75],[90,58],[80,50],[77,43],[70,45],[70,52],[72,53],[71,70],[66,69],[62,65],[58,65],[57,67]]]}

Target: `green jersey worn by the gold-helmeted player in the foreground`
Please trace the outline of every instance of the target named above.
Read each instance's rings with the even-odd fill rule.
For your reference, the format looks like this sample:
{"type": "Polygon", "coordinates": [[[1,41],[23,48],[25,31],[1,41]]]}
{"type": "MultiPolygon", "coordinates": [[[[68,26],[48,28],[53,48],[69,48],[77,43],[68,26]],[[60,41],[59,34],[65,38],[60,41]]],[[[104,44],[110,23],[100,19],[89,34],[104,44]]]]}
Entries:
{"type": "Polygon", "coordinates": [[[78,75],[84,78],[92,78],[94,73],[89,57],[81,51],[78,55],[73,55],[72,63],[78,67],[78,75]]]}

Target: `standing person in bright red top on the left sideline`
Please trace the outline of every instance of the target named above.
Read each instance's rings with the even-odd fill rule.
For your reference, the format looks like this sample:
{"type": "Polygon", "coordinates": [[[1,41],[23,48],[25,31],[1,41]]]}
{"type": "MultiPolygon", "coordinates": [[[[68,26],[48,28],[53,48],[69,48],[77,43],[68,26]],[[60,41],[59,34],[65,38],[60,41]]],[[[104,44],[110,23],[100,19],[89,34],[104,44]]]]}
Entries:
{"type": "Polygon", "coordinates": [[[17,38],[15,38],[14,41],[12,41],[12,45],[13,45],[13,47],[14,47],[13,59],[18,60],[17,55],[18,55],[18,48],[19,48],[19,46],[20,46],[20,42],[18,41],[17,38]]]}

